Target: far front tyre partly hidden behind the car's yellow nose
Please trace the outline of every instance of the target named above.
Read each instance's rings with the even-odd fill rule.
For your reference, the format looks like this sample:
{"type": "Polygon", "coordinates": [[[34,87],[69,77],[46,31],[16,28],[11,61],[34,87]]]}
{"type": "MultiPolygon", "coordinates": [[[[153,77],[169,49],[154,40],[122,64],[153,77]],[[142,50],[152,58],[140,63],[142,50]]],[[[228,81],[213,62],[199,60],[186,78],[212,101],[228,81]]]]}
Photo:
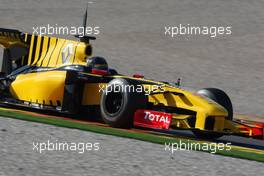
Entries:
{"type": "MultiPolygon", "coordinates": [[[[226,119],[233,120],[232,102],[224,91],[217,89],[217,88],[205,88],[205,89],[199,90],[197,93],[199,95],[208,97],[211,100],[223,106],[228,112],[228,116],[226,117],[226,119]]],[[[205,131],[200,131],[200,130],[193,130],[193,133],[199,138],[207,138],[207,139],[216,139],[216,138],[220,138],[223,136],[223,134],[221,133],[205,132],[205,131]]]]}

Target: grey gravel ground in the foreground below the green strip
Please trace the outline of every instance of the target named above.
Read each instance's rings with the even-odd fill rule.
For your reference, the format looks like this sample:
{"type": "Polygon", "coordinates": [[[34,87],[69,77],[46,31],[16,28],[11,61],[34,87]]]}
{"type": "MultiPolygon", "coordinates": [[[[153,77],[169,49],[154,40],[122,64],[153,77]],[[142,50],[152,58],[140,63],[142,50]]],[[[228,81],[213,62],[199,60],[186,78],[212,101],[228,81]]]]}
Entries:
{"type": "Polygon", "coordinates": [[[263,163],[176,151],[107,135],[0,118],[0,175],[262,175],[263,163]],[[33,150],[35,142],[100,143],[99,151],[33,150]],[[3,145],[4,144],[4,145],[3,145]]]}

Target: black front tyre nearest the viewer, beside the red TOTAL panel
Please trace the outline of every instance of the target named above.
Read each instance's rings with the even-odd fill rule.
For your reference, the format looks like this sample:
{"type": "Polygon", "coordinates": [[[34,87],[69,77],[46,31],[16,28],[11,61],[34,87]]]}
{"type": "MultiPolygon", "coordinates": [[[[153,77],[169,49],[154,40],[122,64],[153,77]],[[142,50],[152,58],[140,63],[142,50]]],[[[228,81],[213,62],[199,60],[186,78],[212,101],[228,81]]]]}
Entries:
{"type": "Polygon", "coordinates": [[[109,82],[102,93],[100,104],[105,123],[117,128],[133,126],[135,111],[146,108],[147,104],[147,96],[143,91],[135,91],[135,88],[136,85],[126,79],[116,78],[109,82]]]}

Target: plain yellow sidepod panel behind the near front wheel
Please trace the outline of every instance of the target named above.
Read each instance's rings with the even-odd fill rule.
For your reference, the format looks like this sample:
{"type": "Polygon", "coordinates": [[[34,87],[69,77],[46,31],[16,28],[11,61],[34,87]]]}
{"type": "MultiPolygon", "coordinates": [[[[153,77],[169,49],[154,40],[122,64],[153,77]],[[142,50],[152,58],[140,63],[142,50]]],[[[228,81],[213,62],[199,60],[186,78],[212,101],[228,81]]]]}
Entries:
{"type": "Polygon", "coordinates": [[[10,92],[18,100],[60,106],[65,78],[65,71],[20,74],[10,85],[10,92]]]}

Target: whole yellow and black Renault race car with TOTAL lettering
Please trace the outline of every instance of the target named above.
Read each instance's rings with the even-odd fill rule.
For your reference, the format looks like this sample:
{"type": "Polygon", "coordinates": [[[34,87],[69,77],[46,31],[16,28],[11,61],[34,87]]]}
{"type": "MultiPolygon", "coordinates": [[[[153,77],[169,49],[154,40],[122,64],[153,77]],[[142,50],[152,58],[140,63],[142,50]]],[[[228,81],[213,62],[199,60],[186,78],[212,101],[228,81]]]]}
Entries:
{"type": "Polygon", "coordinates": [[[92,39],[74,41],[0,29],[1,104],[71,114],[86,110],[87,118],[97,111],[107,124],[121,128],[190,129],[207,138],[263,135],[238,127],[222,90],[192,93],[178,84],[118,74],[104,58],[91,57],[92,39]]]}

